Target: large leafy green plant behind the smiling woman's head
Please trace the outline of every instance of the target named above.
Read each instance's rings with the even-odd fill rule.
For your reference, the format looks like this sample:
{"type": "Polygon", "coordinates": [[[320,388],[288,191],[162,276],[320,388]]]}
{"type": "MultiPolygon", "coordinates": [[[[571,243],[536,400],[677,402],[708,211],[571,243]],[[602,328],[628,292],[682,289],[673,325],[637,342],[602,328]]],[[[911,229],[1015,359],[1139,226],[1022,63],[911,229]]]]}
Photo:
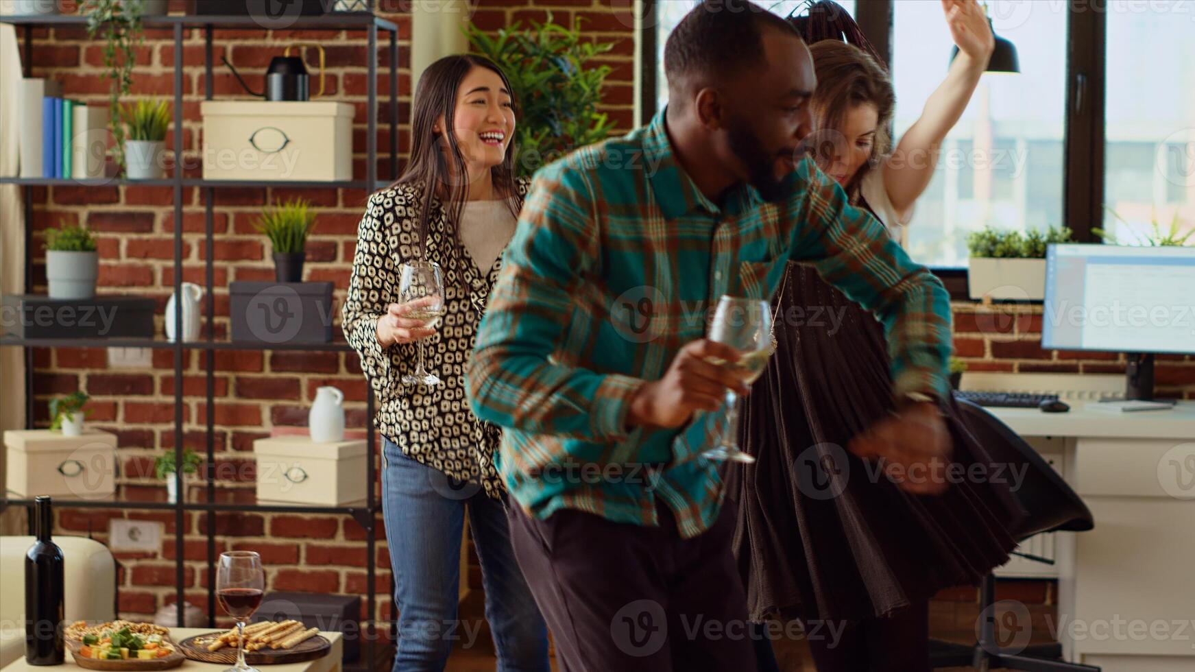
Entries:
{"type": "Polygon", "coordinates": [[[521,22],[492,36],[470,24],[465,32],[473,50],[507,73],[519,105],[515,124],[515,170],[535,169],[575,147],[606,139],[614,123],[598,111],[609,66],[590,61],[614,48],[582,37],[582,19],[571,28],[552,23],[521,22]]]}

